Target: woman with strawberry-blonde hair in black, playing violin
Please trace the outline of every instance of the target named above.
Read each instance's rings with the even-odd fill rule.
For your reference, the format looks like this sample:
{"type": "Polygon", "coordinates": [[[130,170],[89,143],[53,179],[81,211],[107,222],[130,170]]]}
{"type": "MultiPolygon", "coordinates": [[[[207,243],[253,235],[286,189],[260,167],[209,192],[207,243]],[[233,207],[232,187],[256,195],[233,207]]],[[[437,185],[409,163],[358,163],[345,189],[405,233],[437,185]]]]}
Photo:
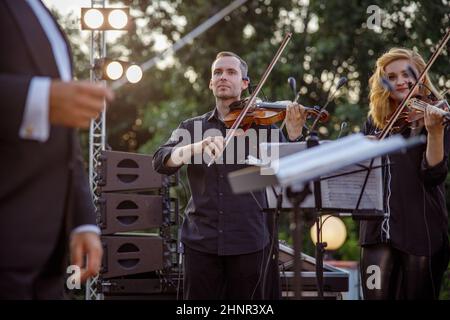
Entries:
{"type": "MultiPolygon", "coordinates": [[[[424,69],[423,58],[409,49],[393,48],[377,60],[369,82],[370,111],[365,134],[373,135],[387,125],[408,95],[415,81],[413,73],[424,69]],[[383,86],[383,81],[387,85],[383,86]]],[[[415,95],[438,96],[428,75],[417,88],[415,95]]],[[[450,130],[443,124],[442,112],[426,108],[422,119],[400,134],[424,134],[427,142],[386,157],[387,215],[382,221],[361,222],[364,298],[437,299],[449,261],[444,182],[450,130]],[[380,271],[376,286],[370,279],[373,266],[380,271]]]]}

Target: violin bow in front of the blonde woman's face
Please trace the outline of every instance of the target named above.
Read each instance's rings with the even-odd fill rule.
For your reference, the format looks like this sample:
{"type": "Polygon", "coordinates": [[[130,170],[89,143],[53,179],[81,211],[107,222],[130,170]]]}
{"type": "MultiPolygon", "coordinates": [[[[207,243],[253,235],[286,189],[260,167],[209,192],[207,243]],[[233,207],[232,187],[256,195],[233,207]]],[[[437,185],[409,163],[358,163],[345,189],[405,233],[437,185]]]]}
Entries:
{"type": "Polygon", "coordinates": [[[406,95],[406,97],[400,103],[400,106],[394,111],[393,115],[391,116],[391,118],[388,121],[388,124],[381,131],[380,140],[383,140],[384,138],[386,138],[387,135],[389,134],[389,132],[392,130],[392,127],[394,126],[394,123],[397,121],[397,119],[400,116],[400,114],[402,113],[403,109],[405,109],[409,99],[411,99],[414,90],[417,88],[419,83],[421,83],[423,81],[423,79],[425,78],[425,75],[427,74],[428,70],[430,70],[431,66],[436,61],[437,57],[442,53],[442,50],[444,50],[445,45],[447,44],[449,39],[450,39],[450,28],[447,30],[446,34],[444,35],[444,37],[441,40],[441,43],[438,45],[436,50],[431,55],[430,60],[427,62],[425,68],[420,73],[419,77],[417,78],[417,81],[415,81],[414,85],[409,90],[409,92],[406,95]]]}

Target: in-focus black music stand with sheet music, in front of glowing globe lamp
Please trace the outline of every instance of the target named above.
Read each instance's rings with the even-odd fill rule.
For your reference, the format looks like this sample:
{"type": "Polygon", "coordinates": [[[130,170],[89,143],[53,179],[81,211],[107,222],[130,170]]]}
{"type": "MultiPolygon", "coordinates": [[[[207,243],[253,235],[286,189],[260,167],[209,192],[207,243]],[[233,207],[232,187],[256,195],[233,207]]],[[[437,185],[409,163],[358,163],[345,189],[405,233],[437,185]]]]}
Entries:
{"type": "MultiPolygon", "coordinates": [[[[284,146],[280,147],[280,149],[283,149],[284,146]]],[[[304,150],[304,143],[303,145],[289,147],[290,149],[292,149],[292,147],[298,147],[299,150],[304,150]]],[[[280,150],[280,154],[283,156],[284,151],[280,150]]],[[[313,183],[309,184],[309,190],[312,190],[312,192],[307,195],[309,198],[304,199],[301,202],[302,211],[297,213],[297,215],[300,215],[301,219],[305,221],[304,223],[301,223],[299,227],[300,230],[303,230],[303,225],[305,224],[312,225],[314,220],[317,225],[315,258],[317,292],[319,299],[322,299],[324,296],[323,256],[327,246],[327,244],[322,241],[322,227],[327,218],[322,220],[322,216],[326,213],[338,216],[350,215],[354,220],[383,218],[385,210],[383,201],[383,176],[381,168],[381,158],[376,158],[371,160],[370,164],[359,163],[357,165],[341,169],[332,175],[327,175],[325,177],[321,177],[320,179],[316,179],[313,183]],[[324,188],[322,188],[322,186],[324,188]],[[370,188],[367,188],[367,192],[365,192],[367,186],[370,188]],[[346,199],[346,201],[333,200],[333,198],[341,197],[348,199],[346,199]],[[360,206],[363,206],[363,209],[359,210],[360,206]]],[[[273,207],[272,189],[274,189],[274,194],[278,193],[278,197],[284,196],[285,198],[289,198],[291,201],[291,203],[288,203],[288,201],[281,200],[282,209],[299,209],[296,207],[297,204],[294,203],[294,201],[297,201],[295,199],[297,196],[292,194],[289,188],[286,192],[277,192],[274,187],[266,189],[269,208],[273,207]]],[[[280,200],[278,200],[278,202],[280,202],[280,200]]],[[[300,241],[300,243],[302,242],[300,241]]],[[[296,247],[298,247],[298,244],[296,247]]]]}

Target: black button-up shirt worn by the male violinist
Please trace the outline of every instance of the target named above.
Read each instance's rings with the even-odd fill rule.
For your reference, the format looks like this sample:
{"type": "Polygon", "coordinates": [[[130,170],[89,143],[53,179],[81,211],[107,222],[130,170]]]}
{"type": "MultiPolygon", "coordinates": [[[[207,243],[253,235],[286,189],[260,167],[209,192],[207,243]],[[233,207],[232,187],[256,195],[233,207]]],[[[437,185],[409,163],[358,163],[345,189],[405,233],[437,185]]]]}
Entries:
{"type": "MultiPolygon", "coordinates": [[[[187,175],[192,196],[185,211],[181,241],[189,248],[217,255],[236,255],[259,251],[269,243],[266,216],[262,212],[262,208],[267,207],[265,192],[234,194],[228,182],[228,173],[245,168],[247,165],[244,161],[249,154],[258,156],[260,142],[282,142],[286,139],[275,126],[251,128],[258,133],[258,139],[247,139],[250,143],[246,143],[245,152],[236,152],[236,146],[239,145],[237,139],[243,137],[234,137],[224,151],[222,164],[214,163],[208,167],[209,158],[206,157],[206,161],[199,164],[194,164],[198,163],[199,158],[194,162],[192,157],[191,163],[188,164],[187,175]],[[265,131],[261,129],[276,131],[267,131],[266,140],[264,134],[260,135],[265,131]],[[276,138],[273,138],[275,135],[276,138]],[[234,155],[229,154],[232,150],[235,151],[234,155]]],[[[225,137],[226,127],[218,118],[217,109],[183,121],[171,138],[154,154],[153,167],[161,174],[173,174],[180,167],[171,168],[166,166],[165,162],[175,146],[198,142],[206,136],[219,134],[225,137]],[[203,136],[207,130],[209,133],[203,136]],[[183,131],[184,135],[180,131],[183,131]],[[187,137],[186,133],[189,133],[190,137],[187,137]]],[[[242,142],[243,140],[240,140],[240,143],[242,142]]],[[[199,156],[201,159],[202,155],[199,156]]]]}

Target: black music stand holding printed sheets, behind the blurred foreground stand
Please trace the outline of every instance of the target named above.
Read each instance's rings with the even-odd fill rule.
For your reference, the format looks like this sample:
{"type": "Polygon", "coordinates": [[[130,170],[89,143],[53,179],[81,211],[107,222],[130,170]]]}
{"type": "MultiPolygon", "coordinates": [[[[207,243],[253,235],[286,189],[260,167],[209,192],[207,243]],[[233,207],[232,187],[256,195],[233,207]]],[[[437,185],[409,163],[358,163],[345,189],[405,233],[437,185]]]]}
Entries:
{"type": "MultiPolygon", "coordinates": [[[[324,142],[326,143],[326,142],[324,142]]],[[[311,148],[314,146],[319,145],[319,140],[317,135],[312,135],[309,138],[307,138],[306,143],[300,142],[300,143],[281,143],[281,144],[262,144],[261,149],[263,154],[269,154],[271,153],[271,148],[273,146],[276,146],[279,148],[279,155],[280,157],[293,154],[295,152],[303,151],[306,148],[311,148]]],[[[367,161],[368,162],[368,161],[367,161]]],[[[315,250],[315,258],[316,258],[316,280],[317,280],[317,291],[318,291],[318,297],[321,299],[324,295],[324,285],[323,285],[323,255],[325,253],[325,248],[327,246],[326,243],[324,243],[322,239],[322,226],[325,223],[321,219],[321,216],[324,213],[328,213],[331,215],[343,215],[342,213],[346,213],[348,215],[351,215],[353,219],[363,220],[363,219],[380,219],[384,216],[384,206],[383,206],[383,190],[382,190],[382,174],[381,174],[381,159],[376,158],[375,159],[375,165],[373,165],[374,160],[370,161],[370,165],[365,163],[360,163],[357,165],[353,165],[349,168],[345,168],[342,170],[339,170],[339,172],[336,172],[333,175],[328,175],[326,177],[321,177],[320,179],[315,180],[313,183],[310,183],[306,194],[306,197],[310,197],[309,199],[303,199],[300,203],[302,203],[302,211],[296,211],[299,208],[297,208],[297,204],[294,204],[291,206],[291,203],[294,203],[294,201],[297,201],[296,198],[300,196],[300,198],[304,197],[301,195],[296,195],[292,193],[292,191],[287,190],[287,192],[277,192],[277,190],[274,187],[267,188],[267,199],[269,208],[273,207],[273,196],[272,193],[277,195],[277,197],[283,197],[289,198],[291,203],[287,203],[287,201],[282,201],[282,209],[292,209],[294,210],[294,218],[292,219],[295,221],[295,224],[299,224],[299,229],[303,230],[303,226],[312,224],[311,222],[315,220],[317,228],[317,242],[316,242],[316,250],[315,250]],[[374,170],[374,172],[371,172],[372,169],[378,169],[374,170]],[[367,174],[366,174],[367,172],[367,174]],[[372,175],[369,175],[370,172],[372,175]],[[343,180],[343,181],[341,181],[343,180]],[[321,185],[324,184],[325,190],[324,194],[322,195],[322,187],[321,185]],[[336,188],[342,185],[347,184],[342,190],[345,190],[344,195],[342,195],[342,191],[340,188],[336,188]],[[354,185],[349,185],[354,184],[354,185]],[[368,194],[366,194],[366,197],[363,198],[363,195],[365,194],[364,191],[366,190],[366,186],[370,185],[372,189],[369,190],[368,194]],[[338,190],[332,190],[338,189],[338,190]],[[357,189],[358,193],[356,192],[357,189]],[[272,191],[273,190],[273,191],[272,191]],[[309,190],[313,190],[310,192],[309,190]],[[338,194],[336,194],[338,192],[338,194]],[[341,193],[339,195],[339,192],[341,193]],[[336,203],[337,201],[334,201],[333,204],[330,204],[331,201],[328,199],[326,201],[326,205],[324,206],[322,199],[326,198],[327,194],[331,194],[328,198],[338,197],[338,196],[345,196],[351,199],[348,199],[348,201],[343,201],[341,204],[336,203]],[[306,201],[305,201],[306,200],[306,201]],[[351,200],[351,201],[350,201],[351,200]],[[272,203],[271,203],[272,202],[272,203]],[[328,203],[328,204],[327,204],[328,203]],[[358,210],[360,205],[363,205],[363,210],[358,210]],[[295,213],[297,212],[297,213],[295,213]],[[303,223],[302,221],[305,221],[303,223]]],[[[277,203],[280,202],[279,199],[277,199],[277,203]]],[[[294,244],[295,247],[299,248],[299,245],[302,244],[303,239],[297,239],[298,235],[301,235],[301,232],[294,232],[294,244]]],[[[300,270],[301,265],[299,266],[300,270]]]]}

